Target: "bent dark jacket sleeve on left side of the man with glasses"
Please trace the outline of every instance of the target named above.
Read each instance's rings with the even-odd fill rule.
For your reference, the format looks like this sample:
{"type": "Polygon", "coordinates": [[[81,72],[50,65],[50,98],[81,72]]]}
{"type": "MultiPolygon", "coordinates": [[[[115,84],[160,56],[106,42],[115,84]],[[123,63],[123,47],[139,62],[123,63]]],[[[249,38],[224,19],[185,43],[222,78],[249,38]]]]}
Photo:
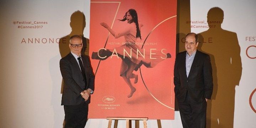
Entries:
{"type": "Polygon", "coordinates": [[[76,94],[80,94],[82,89],[73,79],[70,64],[65,59],[60,59],[60,72],[62,74],[65,85],[68,86],[76,94]]]}

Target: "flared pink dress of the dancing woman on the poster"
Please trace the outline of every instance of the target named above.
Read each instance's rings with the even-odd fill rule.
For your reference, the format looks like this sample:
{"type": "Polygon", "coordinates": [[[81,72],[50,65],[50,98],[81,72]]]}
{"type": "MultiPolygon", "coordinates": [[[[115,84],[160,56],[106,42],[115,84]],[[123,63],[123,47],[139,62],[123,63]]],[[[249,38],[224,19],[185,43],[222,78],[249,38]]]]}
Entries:
{"type": "MultiPolygon", "coordinates": [[[[156,64],[164,60],[162,58],[165,58],[165,55],[163,55],[160,51],[154,50],[153,53],[155,54],[151,54],[151,59],[150,59],[150,52],[149,52],[150,49],[145,49],[145,58],[143,58],[143,56],[140,53],[144,54],[144,50],[140,48],[137,44],[135,44],[136,33],[137,33],[136,24],[133,22],[133,23],[127,23],[126,28],[124,28],[122,32],[116,33],[114,35],[115,38],[124,36],[124,39],[126,42],[126,44],[115,48],[119,56],[122,57],[122,66],[120,70],[120,75],[122,75],[128,70],[128,66],[131,63],[137,64],[134,69],[135,71],[137,71],[142,64],[145,65],[147,68],[153,68],[154,66],[156,66],[156,64]],[[130,54],[130,49],[132,49],[131,58],[127,53],[124,54],[124,49],[129,54],[130,54]],[[140,53],[138,53],[138,57],[137,57],[137,49],[140,51],[140,53]],[[156,58],[156,59],[152,59],[152,58],[156,58]]],[[[115,53],[114,49],[108,49],[108,50],[115,53]]]]}

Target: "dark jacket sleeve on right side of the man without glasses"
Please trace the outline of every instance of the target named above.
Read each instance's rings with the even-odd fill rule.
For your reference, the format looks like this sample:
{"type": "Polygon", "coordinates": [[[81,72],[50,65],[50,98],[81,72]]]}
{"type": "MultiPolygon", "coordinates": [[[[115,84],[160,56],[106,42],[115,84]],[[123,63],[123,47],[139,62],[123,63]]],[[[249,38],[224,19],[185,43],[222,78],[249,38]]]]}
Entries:
{"type": "Polygon", "coordinates": [[[212,64],[210,63],[209,55],[206,56],[203,63],[203,76],[204,76],[204,93],[205,98],[210,99],[213,92],[213,77],[212,77],[212,64]]]}

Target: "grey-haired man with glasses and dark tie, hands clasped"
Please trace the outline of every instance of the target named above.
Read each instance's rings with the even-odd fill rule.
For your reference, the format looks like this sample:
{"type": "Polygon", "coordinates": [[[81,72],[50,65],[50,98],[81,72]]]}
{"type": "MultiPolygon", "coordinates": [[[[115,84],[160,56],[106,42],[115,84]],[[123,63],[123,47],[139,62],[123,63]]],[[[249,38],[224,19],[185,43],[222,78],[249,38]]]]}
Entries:
{"type": "Polygon", "coordinates": [[[65,112],[65,128],[84,128],[90,95],[94,91],[95,75],[88,56],[81,55],[82,38],[70,37],[70,53],[60,59],[60,72],[64,80],[62,105],[65,112]]]}

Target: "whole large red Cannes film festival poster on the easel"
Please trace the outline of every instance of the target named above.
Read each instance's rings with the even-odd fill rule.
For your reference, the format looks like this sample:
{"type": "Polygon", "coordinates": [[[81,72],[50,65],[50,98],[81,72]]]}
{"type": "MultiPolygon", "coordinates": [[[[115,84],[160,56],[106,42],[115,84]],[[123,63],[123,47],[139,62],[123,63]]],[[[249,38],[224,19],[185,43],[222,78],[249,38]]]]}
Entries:
{"type": "Polygon", "coordinates": [[[91,0],[89,118],[174,119],[176,0],[91,0]]]}

